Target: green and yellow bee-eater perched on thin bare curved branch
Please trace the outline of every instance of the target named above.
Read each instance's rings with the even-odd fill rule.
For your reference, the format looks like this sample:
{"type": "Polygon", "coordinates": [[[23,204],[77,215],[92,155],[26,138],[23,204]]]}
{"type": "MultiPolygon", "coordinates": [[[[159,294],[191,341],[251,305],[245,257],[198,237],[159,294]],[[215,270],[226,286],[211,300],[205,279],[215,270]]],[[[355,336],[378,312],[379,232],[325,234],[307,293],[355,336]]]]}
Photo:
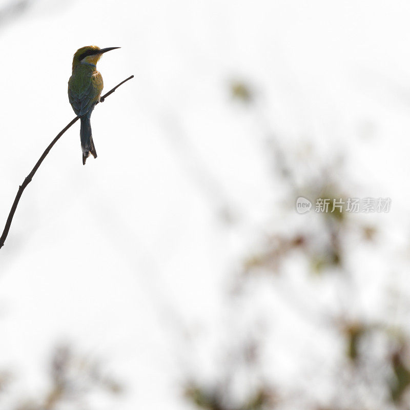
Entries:
{"type": "Polygon", "coordinates": [[[103,77],[97,71],[97,62],[101,55],[120,47],[100,49],[97,46],[87,46],[78,49],[73,57],[73,73],[68,80],[68,99],[76,115],[80,117],[81,150],[83,150],[83,165],[88,156],[97,158],[93,136],[91,133],[91,113],[100,100],[103,91],[103,77]]]}

